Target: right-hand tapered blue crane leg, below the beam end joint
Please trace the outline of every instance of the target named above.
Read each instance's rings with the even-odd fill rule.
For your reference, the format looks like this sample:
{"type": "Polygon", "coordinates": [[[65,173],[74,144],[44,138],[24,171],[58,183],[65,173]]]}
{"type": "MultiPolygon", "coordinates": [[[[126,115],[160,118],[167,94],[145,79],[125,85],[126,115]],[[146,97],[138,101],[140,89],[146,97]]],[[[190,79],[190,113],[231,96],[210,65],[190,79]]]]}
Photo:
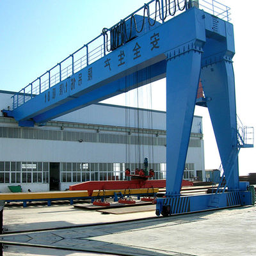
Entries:
{"type": "MultiPolygon", "coordinates": [[[[225,58],[225,57],[224,57],[225,58]]],[[[234,70],[225,60],[202,68],[202,85],[228,189],[239,188],[234,70]]]]}

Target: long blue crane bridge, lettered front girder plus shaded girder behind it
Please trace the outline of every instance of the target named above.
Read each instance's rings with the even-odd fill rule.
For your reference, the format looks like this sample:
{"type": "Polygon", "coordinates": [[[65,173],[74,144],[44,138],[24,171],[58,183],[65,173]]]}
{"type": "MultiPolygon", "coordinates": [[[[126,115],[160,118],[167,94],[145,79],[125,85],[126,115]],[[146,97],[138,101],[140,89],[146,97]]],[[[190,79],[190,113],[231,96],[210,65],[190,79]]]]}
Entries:
{"type": "Polygon", "coordinates": [[[31,118],[43,123],[148,83],[148,79],[165,77],[166,56],[171,49],[179,47],[178,54],[183,48],[199,49],[205,42],[205,33],[196,31],[195,26],[191,28],[193,11],[183,14],[187,19],[175,17],[164,24],[156,23],[148,33],[140,33],[138,38],[14,109],[13,116],[20,124],[31,118]]]}

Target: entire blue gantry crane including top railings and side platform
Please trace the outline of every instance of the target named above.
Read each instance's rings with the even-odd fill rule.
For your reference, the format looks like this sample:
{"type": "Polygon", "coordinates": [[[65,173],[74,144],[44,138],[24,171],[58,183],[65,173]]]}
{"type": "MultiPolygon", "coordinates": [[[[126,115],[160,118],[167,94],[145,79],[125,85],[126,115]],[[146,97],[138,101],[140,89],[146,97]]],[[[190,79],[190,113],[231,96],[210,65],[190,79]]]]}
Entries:
{"type": "Polygon", "coordinates": [[[250,205],[237,156],[240,148],[253,147],[253,127],[237,127],[228,21],[229,8],[216,1],[152,0],[13,95],[4,115],[21,126],[44,125],[166,77],[166,197],[157,199],[156,214],[250,205]],[[203,93],[196,99],[199,81],[203,93]],[[209,109],[222,176],[209,195],[180,196],[195,104],[209,109]]]}

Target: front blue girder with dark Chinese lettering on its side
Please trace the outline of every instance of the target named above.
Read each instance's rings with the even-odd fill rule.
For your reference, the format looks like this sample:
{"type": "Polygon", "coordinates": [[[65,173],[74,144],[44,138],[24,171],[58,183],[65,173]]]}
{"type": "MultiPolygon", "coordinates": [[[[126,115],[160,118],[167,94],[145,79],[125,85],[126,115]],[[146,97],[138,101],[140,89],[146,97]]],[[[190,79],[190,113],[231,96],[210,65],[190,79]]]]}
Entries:
{"type": "Polygon", "coordinates": [[[203,45],[205,42],[204,12],[192,8],[110,52],[44,93],[36,95],[14,109],[12,116],[19,121],[29,120],[92,90],[163,61],[166,59],[166,52],[179,45],[193,44],[195,41],[196,45],[203,45]]]}

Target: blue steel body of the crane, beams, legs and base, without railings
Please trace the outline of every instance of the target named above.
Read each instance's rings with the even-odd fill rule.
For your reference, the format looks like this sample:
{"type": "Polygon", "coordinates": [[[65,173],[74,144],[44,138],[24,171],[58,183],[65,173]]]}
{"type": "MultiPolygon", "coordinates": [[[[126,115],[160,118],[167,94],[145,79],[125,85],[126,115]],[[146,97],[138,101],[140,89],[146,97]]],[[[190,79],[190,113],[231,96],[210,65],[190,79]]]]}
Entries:
{"type": "Polygon", "coordinates": [[[228,177],[228,193],[218,196],[216,207],[251,204],[248,184],[239,183],[237,157],[230,159],[237,150],[234,53],[232,24],[190,8],[163,24],[156,22],[8,114],[23,125],[45,122],[166,76],[166,198],[157,200],[157,215],[204,210],[212,207],[212,195],[180,197],[201,78],[228,177]]]}

